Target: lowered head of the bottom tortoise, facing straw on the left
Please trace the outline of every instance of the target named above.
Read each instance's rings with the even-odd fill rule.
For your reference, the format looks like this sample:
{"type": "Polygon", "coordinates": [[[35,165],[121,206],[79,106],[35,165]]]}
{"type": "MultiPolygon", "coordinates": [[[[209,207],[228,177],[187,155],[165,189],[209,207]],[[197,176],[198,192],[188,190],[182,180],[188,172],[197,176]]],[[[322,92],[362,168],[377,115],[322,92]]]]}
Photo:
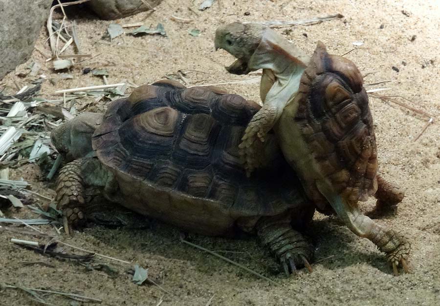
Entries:
{"type": "Polygon", "coordinates": [[[91,138],[102,117],[102,114],[82,113],[50,133],[52,144],[66,161],[93,155],[91,138]]]}

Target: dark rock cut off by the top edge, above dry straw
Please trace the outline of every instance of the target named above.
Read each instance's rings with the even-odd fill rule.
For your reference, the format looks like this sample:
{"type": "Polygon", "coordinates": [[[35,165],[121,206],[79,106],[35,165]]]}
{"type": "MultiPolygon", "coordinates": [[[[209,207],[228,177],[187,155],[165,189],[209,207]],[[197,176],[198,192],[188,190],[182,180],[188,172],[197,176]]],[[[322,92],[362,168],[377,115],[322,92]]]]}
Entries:
{"type": "Polygon", "coordinates": [[[101,19],[118,19],[150,10],[143,2],[154,7],[162,0],[91,0],[88,5],[101,19]]]}

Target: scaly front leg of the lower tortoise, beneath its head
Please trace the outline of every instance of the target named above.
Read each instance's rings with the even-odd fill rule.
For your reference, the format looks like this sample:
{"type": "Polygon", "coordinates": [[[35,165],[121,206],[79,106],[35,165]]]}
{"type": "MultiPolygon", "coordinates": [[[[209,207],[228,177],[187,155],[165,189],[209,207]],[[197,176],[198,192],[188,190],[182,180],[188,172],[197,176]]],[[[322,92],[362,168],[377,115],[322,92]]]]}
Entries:
{"type": "Polygon", "coordinates": [[[90,176],[101,169],[96,158],[80,158],[65,165],[57,180],[57,209],[63,212],[64,230],[73,233],[72,226],[85,222],[85,190],[90,184],[90,176]]]}

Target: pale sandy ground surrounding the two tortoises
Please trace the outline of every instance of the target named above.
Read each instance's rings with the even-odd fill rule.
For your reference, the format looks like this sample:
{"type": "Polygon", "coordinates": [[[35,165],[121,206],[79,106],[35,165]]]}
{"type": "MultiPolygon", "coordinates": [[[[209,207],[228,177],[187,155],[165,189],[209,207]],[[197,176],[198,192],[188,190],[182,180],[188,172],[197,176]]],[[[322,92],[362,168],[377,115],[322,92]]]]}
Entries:
{"type": "MultiPolygon", "coordinates": [[[[68,11],[69,17],[78,23],[82,52],[99,55],[70,71],[73,80],[60,80],[55,86],[44,82],[41,94],[52,97],[57,89],[102,84],[101,79],[82,74],[86,67],[107,69],[110,83],[129,81],[141,85],[179,70],[187,73],[189,85],[248,79],[249,76],[231,76],[223,69],[231,63],[232,57],[224,51],[214,50],[217,26],[234,21],[297,20],[341,13],[345,16],[342,19],[278,31],[309,54],[318,40],[333,54],[342,55],[355,49],[346,57],[366,75],[365,84],[390,81],[367,85],[367,89],[390,87],[380,94],[404,96],[412,102],[399,101],[431,114],[435,120],[440,118],[440,9],[439,4],[434,4],[438,1],[316,0],[296,4],[296,1],[219,0],[196,15],[188,6],[197,10],[198,2],[164,0],[153,14],[145,12],[118,21],[154,26],[162,23],[167,38],[125,35],[111,43],[103,39],[110,22],[84,16],[79,11],[68,11]],[[245,16],[245,12],[250,14],[245,16]],[[171,20],[172,15],[194,22],[176,22],[171,20]],[[201,30],[199,37],[188,34],[193,28],[201,30]],[[411,41],[413,36],[415,40],[411,41]],[[353,42],[363,42],[363,45],[355,47],[353,42]],[[393,70],[393,66],[399,71],[393,70]]],[[[49,54],[46,38],[43,30],[37,47],[49,54]]],[[[45,57],[40,52],[35,51],[32,60],[43,65],[43,72],[48,77],[57,76],[44,63],[45,57]]],[[[14,79],[19,85],[28,83],[28,79],[16,77],[14,73],[3,81],[14,87],[14,79]]],[[[258,82],[222,87],[258,100],[258,82]]],[[[77,108],[91,102],[91,98],[82,100],[77,108]]],[[[15,247],[10,238],[39,238],[9,231],[2,231],[0,235],[0,282],[74,292],[102,299],[101,305],[105,306],[159,305],[161,297],[163,306],[440,305],[440,126],[438,123],[429,126],[415,141],[427,118],[376,98],[371,97],[370,103],[376,125],[380,171],[406,192],[396,215],[377,222],[411,237],[410,274],[394,277],[383,254],[372,243],[353,235],[332,218],[317,215],[309,234],[316,245],[315,261],[318,262],[313,264],[313,273],[302,270],[291,278],[278,274],[275,260],[253,238],[229,240],[190,235],[194,243],[242,263],[279,282],[279,286],[182,244],[177,229],[158,222],[153,222],[148,229],[96,226],[72,239],[64,235],[60,239],[148,267],[150,278],[167,293],[152,284],[138,286],[132,283],[132,276],[126,270],[133,264],[104,260],[119,271],[117,276],[109,277],[101,271],[88,271],[73,261],[51,259],[15,247]],[[29,262],[30,265],[25,265],[29,262]]],[[[88,105],[86,110],[105,108],[105,103],[100,102],[88,105]]],[[[37,166],[19,168],[13,176],[25,178],[33,184],[34,190],[46,196],[54,195],[53,183],[44,181],[37,166]]],[[[374,201],[362,205],[369,210],[374,201]]],[[[37,217],[27,208],[20,212],[9,209],[5,213],[9,217],[37,217]]],[[[55,233],[49,226],[40,229],[55,233]]],[[[63,248],[68,253],[73,252],[63,248]]],[[[90,304],[55,295],[44,296],[44,299],[59,306],[90,304]]],[[[0,291],[0,305],[37,303],[22,291],[4,289],[0,291]]]]}

